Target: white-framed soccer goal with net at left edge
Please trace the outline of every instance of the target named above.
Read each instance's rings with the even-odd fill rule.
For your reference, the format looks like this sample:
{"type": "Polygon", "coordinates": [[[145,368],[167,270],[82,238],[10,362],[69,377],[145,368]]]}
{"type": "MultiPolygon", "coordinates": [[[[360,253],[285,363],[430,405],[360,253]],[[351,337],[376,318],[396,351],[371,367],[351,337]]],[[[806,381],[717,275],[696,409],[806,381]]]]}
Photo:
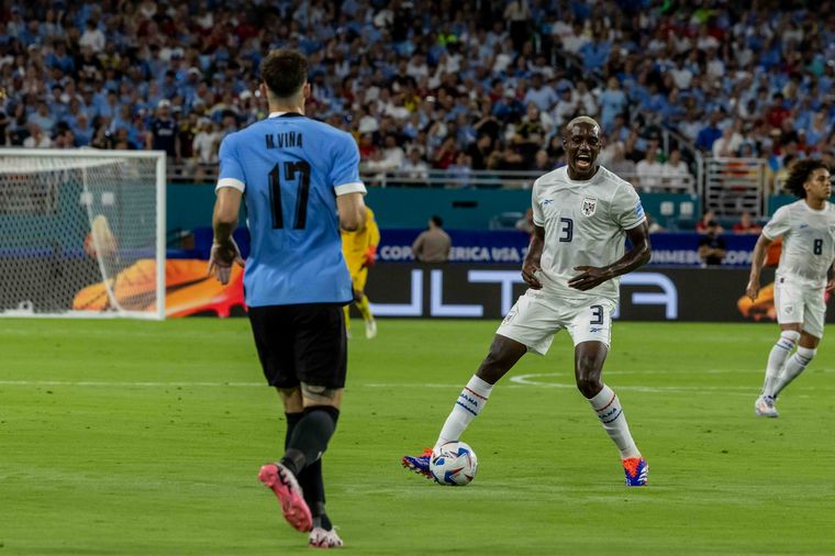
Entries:
{"type": "Polygon", "coordinates": [[[165,318],[165,153],[0,148],[0,315],[165,318]]]}

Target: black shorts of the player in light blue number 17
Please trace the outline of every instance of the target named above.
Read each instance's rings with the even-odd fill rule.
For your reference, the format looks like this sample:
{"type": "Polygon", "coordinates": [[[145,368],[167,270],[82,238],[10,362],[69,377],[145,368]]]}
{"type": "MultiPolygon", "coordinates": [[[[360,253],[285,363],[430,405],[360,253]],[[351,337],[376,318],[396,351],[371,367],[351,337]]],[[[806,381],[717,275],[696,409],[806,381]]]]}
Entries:
{"type": "Polygon", "coordinates": [[[250,307],[255,346],[270,386],[343,388],[348,358],[341,303],[250,307]]]}

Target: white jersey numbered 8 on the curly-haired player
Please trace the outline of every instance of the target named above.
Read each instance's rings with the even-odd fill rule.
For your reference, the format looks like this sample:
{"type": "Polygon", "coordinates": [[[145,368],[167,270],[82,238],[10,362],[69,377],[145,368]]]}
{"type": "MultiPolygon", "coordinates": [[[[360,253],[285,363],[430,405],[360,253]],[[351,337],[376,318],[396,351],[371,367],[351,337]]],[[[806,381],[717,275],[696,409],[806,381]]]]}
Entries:
{"type": "Polygon", "coordinates": [[[814,288],[826,286],[826,273],[835,259],[835,205],[827,201],[816,211],[801,199],[780,207],[762,235],[771,241],[783,238],[778,276],[814,288]]]}

